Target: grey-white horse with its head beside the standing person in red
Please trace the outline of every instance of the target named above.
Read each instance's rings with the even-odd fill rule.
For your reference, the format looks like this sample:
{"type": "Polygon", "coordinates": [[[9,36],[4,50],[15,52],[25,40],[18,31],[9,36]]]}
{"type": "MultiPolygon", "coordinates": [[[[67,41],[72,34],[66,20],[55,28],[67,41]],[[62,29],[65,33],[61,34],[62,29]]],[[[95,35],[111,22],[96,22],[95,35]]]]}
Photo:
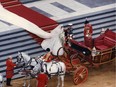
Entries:
{"type": "Polygon", "coordinates": [[[24,52],[18,52],[16,64],[18,67],[21,67],[19,73],[25,76],[23,87],[26,87],[26,80],[29,79],[29,84],[27,87],[30,87],[31,82],[31,73],[30,70],[37,64],[37,61],[34,58],[31,58],[28,54],[24,52]]]}

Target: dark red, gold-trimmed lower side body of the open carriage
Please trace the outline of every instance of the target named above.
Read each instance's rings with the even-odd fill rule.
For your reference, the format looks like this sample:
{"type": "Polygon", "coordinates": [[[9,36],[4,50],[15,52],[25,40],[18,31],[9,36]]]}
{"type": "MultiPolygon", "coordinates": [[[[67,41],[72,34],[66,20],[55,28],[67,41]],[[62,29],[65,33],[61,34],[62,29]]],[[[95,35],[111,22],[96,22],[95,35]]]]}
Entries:
{"type": "MultiPolygon", "coordinates": [[[[82,46],[83,47],[83,46],[82,46]]],[[[74,55],[76,55],[75,58],[78,58],[80,60],[80,63],[85,65],[85,66],[91,66],[91,67],[98,67],[102,64],[108,63],[113,61],[116,57],[115,57],[115,46],[108,48],[108,49],[104,49],[104,50],[96,50],[95,55],[92,55],[92,50],[90,49],[91,54],[90,55],[85,55],[82,52],[72,49],[70,47],[65,47],[65,49],[68,51],[68,56],[72,57],[74,55]]],[[[83,49],[83,48],[82,48],[83,49]]],[[[73,59],[75,58],[71,58],[71,61],[74,61],[73,59]]]]}

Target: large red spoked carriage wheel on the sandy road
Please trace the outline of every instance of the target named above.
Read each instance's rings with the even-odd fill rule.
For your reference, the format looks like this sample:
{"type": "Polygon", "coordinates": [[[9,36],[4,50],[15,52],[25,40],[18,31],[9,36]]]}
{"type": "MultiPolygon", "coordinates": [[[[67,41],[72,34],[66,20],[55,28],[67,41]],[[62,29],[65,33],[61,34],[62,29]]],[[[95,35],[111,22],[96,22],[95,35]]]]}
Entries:
{"type": "Polygon", "coordinates": [[[87,80],[88,69],[85,66],[77,67],[74,72],[73,81],[75,85],[78,85],[87,80]]]}

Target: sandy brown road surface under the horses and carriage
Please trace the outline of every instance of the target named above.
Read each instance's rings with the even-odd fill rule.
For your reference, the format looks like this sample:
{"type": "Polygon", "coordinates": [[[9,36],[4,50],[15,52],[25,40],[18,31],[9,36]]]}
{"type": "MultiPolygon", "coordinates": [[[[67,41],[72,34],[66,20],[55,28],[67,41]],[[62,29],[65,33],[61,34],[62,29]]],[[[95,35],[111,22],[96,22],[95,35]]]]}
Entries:
{"type": "MultiPolygon", "coordinates": [[[[89,68],[87,81],[80,85],[74,85],[71,75],[65,76],[64,87],[116,87],[115,61],[102,65],[99,68],[89,68]]],[[[28,83],[28,81],[27,81],[28,83]]],[[[12,87],[22,87],[23,80],[17,79],[12,81],[12,87]]],[[[57,77],[53,77],[48,82],[48,87],[56,87],[57,77]]],[[[7,86],[5,86],[7,87],[7,86]]],[[[31,87],[36,87],[36,79],[31,80],[31,87]]]]}

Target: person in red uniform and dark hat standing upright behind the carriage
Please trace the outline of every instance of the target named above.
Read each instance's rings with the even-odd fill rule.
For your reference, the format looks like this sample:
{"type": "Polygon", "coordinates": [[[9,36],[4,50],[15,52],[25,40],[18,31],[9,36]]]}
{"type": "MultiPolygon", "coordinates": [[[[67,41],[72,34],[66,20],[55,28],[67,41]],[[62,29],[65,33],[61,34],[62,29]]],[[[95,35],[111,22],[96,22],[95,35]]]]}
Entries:
{"type": "Polygon", "coordinates": [[[92,25],[89,24],[89,21],[86,19],[84,26],[84,43],[87,47],[92,48],[92,25]]]}

